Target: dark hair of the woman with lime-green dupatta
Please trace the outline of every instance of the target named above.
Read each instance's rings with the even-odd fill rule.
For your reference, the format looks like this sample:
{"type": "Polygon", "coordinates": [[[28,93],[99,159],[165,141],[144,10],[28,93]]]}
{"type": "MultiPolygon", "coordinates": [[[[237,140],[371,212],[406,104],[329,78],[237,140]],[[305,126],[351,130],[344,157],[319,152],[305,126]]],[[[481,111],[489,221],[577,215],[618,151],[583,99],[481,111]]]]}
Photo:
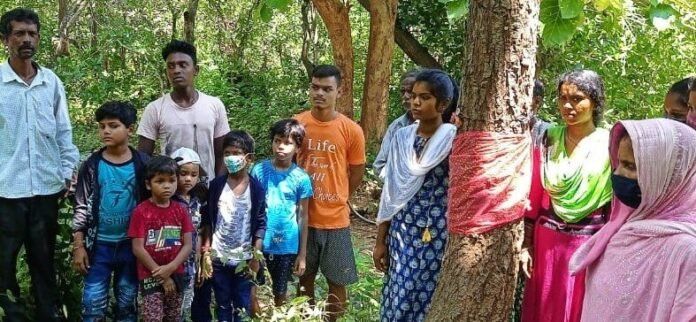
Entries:
{"type": "Polygon", "coordinates": [[[604,116],[604,82],[602,77],[595,71],[589,69],[579,69],[567,72],[558,80],[558,92],[561,92],[563,84],[573,84],[583,93],[590,96],[590,100],[594,103],[592,110],[592,123],[595,126],[599,124],[604,116]]]}

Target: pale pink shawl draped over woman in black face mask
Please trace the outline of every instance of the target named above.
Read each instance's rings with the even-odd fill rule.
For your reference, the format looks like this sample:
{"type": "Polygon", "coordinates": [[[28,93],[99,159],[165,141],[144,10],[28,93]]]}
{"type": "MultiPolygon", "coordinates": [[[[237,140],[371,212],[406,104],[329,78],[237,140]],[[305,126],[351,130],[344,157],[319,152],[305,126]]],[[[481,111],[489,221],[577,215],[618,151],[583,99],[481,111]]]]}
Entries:
{"type": "Polygon", "coordinates": [[[632,139],[642,202],[614,199],[610,222],[573,255],[587,268],[582,321],[696,321],[696,131],[667,119],[623,121],[632,139]]]}

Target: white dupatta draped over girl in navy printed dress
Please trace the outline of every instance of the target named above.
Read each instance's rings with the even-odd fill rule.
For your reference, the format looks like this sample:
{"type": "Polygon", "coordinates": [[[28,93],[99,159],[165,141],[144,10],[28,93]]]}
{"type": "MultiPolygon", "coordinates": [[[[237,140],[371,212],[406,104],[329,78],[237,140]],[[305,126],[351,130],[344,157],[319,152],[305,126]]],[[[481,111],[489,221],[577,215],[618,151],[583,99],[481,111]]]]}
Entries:
{"type": "Polygon", "coordinates": [[[415,123],[399,129],[391,141],[387,164],[380,173],[384,186],[379,200],[377,224],[391,220],[406,207],[423,185],[425,175],[445,160],[452,150],[457,128],[445,123],[425,144],[419,158],[413,148],[418,126],[419,123],[415,123]]]}

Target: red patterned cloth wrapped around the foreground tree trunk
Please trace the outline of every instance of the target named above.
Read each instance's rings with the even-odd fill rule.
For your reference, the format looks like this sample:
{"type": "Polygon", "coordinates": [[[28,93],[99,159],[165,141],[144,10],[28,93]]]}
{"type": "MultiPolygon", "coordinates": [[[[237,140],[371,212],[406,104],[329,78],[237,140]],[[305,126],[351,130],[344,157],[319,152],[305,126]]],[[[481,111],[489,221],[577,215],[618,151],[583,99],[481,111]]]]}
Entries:
{"type": "Polygon", "coordinates": [[[450,155],[448,230],[481,234],[521,219],[531,185],[528,134],[464,132],[450,155]]]}

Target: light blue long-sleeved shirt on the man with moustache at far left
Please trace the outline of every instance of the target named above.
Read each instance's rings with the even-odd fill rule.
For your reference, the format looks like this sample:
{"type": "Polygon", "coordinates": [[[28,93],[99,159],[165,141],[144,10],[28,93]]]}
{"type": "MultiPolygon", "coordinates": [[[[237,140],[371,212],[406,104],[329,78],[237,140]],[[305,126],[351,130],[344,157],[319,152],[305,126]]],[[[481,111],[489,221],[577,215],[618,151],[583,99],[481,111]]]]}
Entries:
{"type": "Polygon", "coordinates": [[[79,159],[63,83],[34,67],[27,84],[9,63],[0,65],[0,198],[55,194],[79,159]]]}

